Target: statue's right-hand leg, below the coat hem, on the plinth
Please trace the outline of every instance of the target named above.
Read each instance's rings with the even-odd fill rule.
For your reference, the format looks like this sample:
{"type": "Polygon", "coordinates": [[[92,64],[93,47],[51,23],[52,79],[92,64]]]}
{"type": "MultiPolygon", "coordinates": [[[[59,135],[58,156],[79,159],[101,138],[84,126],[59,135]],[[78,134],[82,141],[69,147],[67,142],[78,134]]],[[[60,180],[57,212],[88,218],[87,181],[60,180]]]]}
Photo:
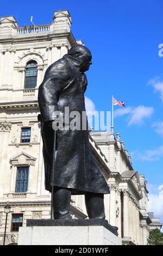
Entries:
{"type": "Polygon", "coordinates": [[[85,206],[89,218],[105,218],[104,194],[87,192],[85,206]]]}

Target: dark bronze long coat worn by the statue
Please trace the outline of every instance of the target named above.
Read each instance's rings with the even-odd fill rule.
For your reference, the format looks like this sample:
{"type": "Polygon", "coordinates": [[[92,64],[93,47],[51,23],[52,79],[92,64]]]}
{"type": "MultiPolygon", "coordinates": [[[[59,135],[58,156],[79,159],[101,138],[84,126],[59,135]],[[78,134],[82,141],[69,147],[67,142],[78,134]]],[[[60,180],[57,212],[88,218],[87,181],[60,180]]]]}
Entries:
{"type": "MultiPolygon", "coordinates": [[[[80,64],[79,60],[66,54],[49,66],[39,87],[45,187],[48,191],[51,191],[54,131],[47,121],[56,118],[54,111],[61,111],[64,115],[65,107],[70,107],[70,113],[78,111],[82,115],[82,111],[85,111],[87,80],[79,70],[80,64]]],[[[72,194],[109,193],[109,187],[90,150],[88,129],[57,131],[54,186],[73,188],[72,194]]]]}

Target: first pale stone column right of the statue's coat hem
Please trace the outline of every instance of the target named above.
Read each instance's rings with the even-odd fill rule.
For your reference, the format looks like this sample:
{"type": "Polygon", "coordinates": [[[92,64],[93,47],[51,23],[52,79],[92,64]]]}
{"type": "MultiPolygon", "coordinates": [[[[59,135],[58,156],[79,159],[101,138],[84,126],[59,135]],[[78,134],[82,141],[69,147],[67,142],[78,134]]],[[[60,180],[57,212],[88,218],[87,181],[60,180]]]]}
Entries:
{"type": "Polygon", "coordinates": [[[116,225],[116,185],[111,184],[110,188],[110,225],[116,225]]]}

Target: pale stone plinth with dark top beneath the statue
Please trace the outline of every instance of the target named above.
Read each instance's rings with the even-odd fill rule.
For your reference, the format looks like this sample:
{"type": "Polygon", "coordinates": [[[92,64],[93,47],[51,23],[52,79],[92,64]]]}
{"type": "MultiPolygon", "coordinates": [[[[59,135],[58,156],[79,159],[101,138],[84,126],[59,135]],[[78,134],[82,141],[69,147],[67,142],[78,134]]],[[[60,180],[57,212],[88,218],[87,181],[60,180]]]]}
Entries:
{"type": "MultiPolygon", "coordinates": [[[[18,245],[122,245],[105,220],[28,220],[18,245]]],[[[114,230],[116,233],[116,231],[114,230]]]]}

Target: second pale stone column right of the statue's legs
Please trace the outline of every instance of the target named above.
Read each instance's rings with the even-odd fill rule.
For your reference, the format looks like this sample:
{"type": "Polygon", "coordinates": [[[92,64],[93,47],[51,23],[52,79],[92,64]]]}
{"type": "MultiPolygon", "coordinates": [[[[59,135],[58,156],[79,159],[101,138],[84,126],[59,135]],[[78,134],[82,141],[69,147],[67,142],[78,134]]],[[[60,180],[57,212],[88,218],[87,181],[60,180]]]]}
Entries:
{"type": "Polygon", "coordinates": [[[129,237],[128,193],[123,192],[123,237],[129,237]]]}

